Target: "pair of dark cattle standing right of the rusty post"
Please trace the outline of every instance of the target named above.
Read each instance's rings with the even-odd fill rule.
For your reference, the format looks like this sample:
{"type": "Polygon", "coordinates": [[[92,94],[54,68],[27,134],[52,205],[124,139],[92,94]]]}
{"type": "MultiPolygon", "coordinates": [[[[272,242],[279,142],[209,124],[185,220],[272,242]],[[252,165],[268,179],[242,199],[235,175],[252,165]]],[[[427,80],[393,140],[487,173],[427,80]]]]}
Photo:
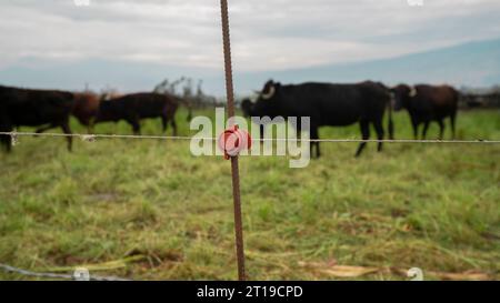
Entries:
{"type": "MultiPolygon", "coordinates": [[[[440,127],[440,139],[444,132],[444,119],[450,118],[452,137],[458,110],[459,93],[449,85],[410,87],[399,84],[388,88],[380,82],[366,81],[356,84],[302,83],[282,85],[268,81],[256,102],[243,100],[241,108],[248,117],[310,117],[310,139],[316,156],[321,155],[318,129],[320,127],[344,127],[360,124],[363,140],[370,139],[370,124],[377,132],[378,140],[384,138],[382,125],[386,110],[389,112],[389,139],[394,139],[392,109],[408,110],[413,128],[414,139],[418,139],[419,125],[423,124],[422,139],[426,139],[430,122],[440,127]]],[[[299,130],[300,131],[300,130],[299,130]]],[[[262,132],[262,129],[261,129],[262,132]]],[[[361,142],[357,156],[366,147],[361,142]]],[[[378,150],[382,150],[379,142],[378,150]]]]}

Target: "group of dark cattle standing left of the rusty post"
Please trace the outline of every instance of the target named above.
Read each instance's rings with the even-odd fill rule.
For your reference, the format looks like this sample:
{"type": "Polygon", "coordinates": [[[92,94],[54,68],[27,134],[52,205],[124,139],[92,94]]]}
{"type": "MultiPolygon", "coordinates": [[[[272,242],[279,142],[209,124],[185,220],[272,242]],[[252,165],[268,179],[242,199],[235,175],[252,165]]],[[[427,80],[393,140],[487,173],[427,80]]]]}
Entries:
{"type": "MultiPolygon", "coordinates": [[[[72,93],[54,90],[28,90],[0,87],[0,132],[11,132],[18,127],[38,127],[37,133],[61,128],[71,134],[70,117],[89,128],[96,123],[127,121],[133,133],[140,134],[140,121],[161,118],[163,131],[170,123],[177,133],[176,112],[182,100],[174,95],[133,93],[104,101],[93,93],[72,93]]],[[[0,135],[2,145],[10,151],[11,137],[0,135]]],[[[67,137],[71,151],[72,138],[67,137]]]]}

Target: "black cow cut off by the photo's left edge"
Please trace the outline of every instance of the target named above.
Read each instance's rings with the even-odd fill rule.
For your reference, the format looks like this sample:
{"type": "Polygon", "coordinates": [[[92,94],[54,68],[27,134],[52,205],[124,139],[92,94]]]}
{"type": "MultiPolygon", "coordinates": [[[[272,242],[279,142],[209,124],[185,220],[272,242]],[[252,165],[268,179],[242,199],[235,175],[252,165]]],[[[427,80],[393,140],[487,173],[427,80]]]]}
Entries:
{"type": "MultiPolygon", "coordinates": [[[[71,134],[69,119],[74,95],[53,90],[28,90],[0,85],[0,131],[11,132],[16,127],[41,127],[37,133],[61,128],[71,134]]],[[[67,137],[71,151],[72,138],[67,137]]],[[[1,143],[11,150],[11,137],[1,135],[1,143]]]]}

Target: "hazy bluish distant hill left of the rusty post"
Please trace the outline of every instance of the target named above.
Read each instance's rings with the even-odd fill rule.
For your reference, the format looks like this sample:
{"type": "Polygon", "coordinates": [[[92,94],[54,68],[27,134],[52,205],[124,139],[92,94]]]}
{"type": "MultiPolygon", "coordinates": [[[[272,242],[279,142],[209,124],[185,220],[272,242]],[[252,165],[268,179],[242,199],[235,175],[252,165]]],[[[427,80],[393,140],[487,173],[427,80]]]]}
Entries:
{"type": "MultiPolygon", "coordinates": [[[[109,87],[121,92],[137,92],[152,91],[164,79],[176,80],[182,75],[197,80],[222,79],[223,71],[120,60],[86,59],[60,62],[27,58],[16,65],[0,69],[0,83],[64,90],[83,90],[88,84],[94,91],[109,87]]],[[[222,94],[224,83],[213,83],[210,92],[222,94]]]]}

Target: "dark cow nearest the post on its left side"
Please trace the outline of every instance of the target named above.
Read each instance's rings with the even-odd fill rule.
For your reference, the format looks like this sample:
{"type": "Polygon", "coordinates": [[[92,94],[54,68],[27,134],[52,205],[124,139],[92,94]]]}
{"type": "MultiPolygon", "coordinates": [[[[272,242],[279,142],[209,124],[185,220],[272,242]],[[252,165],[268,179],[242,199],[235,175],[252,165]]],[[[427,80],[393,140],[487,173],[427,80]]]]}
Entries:
{"type": "Polygon", "coordinates": [[[133,93],[119,97],[99,104],[96,123],[124,120],[132,125],[133,133],[139,134],[140,120],[147,118],[161,118],[163,132],[168,123],[177,135],[176,112],[179,101],[171,95],[159,93],[133,93]]]}

